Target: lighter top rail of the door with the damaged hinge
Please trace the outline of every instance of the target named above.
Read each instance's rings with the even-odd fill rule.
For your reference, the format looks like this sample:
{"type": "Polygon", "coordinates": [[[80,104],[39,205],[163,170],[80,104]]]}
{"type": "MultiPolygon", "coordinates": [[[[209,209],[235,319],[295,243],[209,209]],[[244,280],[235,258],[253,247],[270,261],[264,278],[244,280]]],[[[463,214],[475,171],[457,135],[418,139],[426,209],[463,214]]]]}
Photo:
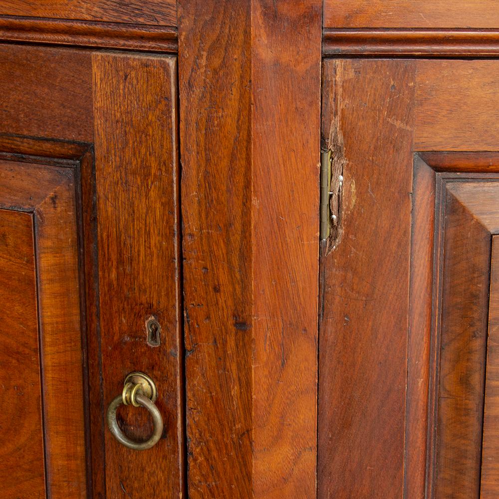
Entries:
{"type": "Polygon", "coordinates": [[[498,81],[497,61],[418,61],[414,149],[499,150],[498,81]]]}

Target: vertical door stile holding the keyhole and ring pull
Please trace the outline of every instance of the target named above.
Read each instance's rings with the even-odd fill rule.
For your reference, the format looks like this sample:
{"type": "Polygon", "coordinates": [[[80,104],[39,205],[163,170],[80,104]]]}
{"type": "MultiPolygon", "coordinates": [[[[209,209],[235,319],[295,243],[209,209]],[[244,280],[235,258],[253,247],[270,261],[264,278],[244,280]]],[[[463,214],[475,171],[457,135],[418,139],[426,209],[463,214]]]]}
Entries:
{"type": "MultiPolygon", "coordinates": [[[[104,403],[121,393],[127,373],[143,371],[156,382],[165,423],[161,441],[144,452],[106,431],[107,497],[181,497],[176,58],[95,53],[92,63],[104,403]],[[150,317],[161,325],[158,347],[147,343],[150,317]]],[[[119,415],[130,438],[149,437],[145,411],[119,415]]]]}

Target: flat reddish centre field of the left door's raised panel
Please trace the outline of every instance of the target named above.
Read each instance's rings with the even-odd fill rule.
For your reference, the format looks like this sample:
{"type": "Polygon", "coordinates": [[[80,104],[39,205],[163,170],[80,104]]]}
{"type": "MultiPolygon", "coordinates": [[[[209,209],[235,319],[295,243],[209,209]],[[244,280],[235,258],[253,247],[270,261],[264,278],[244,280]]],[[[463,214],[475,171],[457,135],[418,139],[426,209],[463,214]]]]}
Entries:
{"type": "Polygon", "coordinates": [[[30,214],[0,210],[1,499],[45,497],[30,214]]]}

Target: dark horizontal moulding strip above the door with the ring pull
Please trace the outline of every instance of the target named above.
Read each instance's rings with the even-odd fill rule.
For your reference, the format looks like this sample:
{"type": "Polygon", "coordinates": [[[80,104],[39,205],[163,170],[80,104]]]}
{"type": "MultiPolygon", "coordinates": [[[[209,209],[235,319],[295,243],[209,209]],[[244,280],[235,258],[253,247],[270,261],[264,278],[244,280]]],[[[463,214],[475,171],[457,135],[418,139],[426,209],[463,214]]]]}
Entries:
{"type": "Polygon", "coordinates": [[[175,26],[0,16],[0,42],[50,43],[176,53],[175,26]]]}

